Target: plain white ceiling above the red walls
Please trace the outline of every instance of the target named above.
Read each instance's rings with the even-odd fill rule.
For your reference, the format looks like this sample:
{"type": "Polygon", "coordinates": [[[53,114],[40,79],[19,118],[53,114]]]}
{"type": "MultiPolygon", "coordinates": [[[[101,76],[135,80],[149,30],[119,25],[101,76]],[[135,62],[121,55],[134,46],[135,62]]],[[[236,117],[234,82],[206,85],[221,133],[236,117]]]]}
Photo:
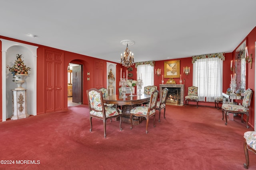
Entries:
{"type": "Polygon", "coordinates": [[[1,0],[0,35],[120,62],[229,53],[256,26],[256,0],[1,0]],[[38,37],[29,37],[32,33],[38,37]]]}

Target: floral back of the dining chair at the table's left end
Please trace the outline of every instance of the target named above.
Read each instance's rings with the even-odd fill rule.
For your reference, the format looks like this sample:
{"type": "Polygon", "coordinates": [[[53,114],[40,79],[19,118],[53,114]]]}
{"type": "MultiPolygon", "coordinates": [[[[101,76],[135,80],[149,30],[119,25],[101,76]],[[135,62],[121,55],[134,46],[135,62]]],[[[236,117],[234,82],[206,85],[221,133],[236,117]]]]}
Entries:
{"type": "Polygon", "coordinates": [[[86,90],[88,96],[89,111],[92,115],[106,117],[102,92],[96,88],[86,90]]]}

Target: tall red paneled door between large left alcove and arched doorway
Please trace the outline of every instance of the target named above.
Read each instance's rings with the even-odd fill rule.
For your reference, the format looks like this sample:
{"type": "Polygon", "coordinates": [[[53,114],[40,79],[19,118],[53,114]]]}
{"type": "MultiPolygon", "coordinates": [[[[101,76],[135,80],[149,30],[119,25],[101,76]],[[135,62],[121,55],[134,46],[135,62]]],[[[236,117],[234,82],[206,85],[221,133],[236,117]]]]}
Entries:
{"type": "Polygon", "coordinates": [[[62,53],[45,51],[46,113],[62,110],[62,53]]]}

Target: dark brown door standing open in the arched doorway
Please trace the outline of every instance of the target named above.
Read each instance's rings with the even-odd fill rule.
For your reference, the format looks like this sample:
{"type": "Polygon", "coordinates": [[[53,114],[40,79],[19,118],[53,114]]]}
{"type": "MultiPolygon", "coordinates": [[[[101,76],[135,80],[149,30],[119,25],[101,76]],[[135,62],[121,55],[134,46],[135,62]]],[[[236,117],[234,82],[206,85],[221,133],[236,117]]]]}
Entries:
{"type": "Polygon", "coordinates": [[[82,65],[72,67],[72,102],[82,104],[82,65]]]}

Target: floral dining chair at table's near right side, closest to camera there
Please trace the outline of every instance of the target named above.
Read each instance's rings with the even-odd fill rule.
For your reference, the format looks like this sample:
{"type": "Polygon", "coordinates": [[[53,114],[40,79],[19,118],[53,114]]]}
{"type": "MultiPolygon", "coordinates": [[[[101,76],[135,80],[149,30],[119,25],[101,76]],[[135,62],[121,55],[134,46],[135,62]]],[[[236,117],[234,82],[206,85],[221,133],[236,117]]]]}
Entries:
{"type": "Polygon", "coordinates": [[[152,116],[154,117],[153,127],[155,127],[157,99],[158,99],[158,90],[154,90],[151,94],[150,102],[148,106],[137,106],[130,110],[131,129],[132,129],[132,119],[134,116],[146,118],[146,133],[148,133],[149,118],[152,116]]]}

